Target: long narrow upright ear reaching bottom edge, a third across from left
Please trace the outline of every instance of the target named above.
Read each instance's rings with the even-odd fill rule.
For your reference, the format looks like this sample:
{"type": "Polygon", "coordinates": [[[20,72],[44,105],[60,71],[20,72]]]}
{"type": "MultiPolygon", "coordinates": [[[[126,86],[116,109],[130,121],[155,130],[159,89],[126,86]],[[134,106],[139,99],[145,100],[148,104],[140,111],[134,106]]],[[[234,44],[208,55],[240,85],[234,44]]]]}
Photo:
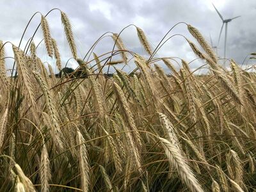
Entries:
{"type": "Polygon", "coordinates": [[[83,135],[77,129],[77,145],[78,145],[78,161],[79,161],[79,170],[81,174],[81,187],[83,191],[89,190],[89,161],[88,161],[88,152],[85,145],[85,140],[83,135]]]}

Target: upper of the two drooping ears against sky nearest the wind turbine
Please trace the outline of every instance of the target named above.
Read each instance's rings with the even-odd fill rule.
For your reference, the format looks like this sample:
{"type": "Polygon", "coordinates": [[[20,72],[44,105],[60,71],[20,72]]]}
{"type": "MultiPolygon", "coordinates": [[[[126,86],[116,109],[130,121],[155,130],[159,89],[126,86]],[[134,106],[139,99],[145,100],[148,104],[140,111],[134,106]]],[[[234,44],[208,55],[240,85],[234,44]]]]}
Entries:
{"type": "Polygon", "coordinates": [[[210,56],[210,58],[216,63],[217,58],[214,52],[211,49],[211,46],[205,41],[202,34],[198,31],[198,29],[194,28],[193,26],[188,24],[188,31],[189,33],[194,36],[197,42],[201,45],[205,52],[210,56]]]}

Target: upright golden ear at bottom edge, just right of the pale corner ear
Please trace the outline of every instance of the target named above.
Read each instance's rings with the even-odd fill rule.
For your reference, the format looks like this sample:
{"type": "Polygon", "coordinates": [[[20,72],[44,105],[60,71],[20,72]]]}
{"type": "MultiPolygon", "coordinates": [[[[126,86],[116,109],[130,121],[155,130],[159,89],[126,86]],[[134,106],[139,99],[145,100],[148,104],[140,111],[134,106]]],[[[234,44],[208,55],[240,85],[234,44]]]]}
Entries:
{"type": "Polygon", "coordinates": [[[45,145],[43,145],[43,148],[42,148],[39,173],[40,173],[40,182],[42,185],[41,191],[44,191],[44,192],[50,191],[49,180],[51,179],[51,168],[50,168],[48,152],[45,145]]]}

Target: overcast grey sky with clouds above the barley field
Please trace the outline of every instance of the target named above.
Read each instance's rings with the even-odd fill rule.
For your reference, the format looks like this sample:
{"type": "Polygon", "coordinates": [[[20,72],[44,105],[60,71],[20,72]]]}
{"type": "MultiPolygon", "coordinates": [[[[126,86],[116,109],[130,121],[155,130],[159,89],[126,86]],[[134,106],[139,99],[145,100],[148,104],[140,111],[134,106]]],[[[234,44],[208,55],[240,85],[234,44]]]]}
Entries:
{"type": "MultiPolygon", "coordinates": [[[[165,33],[177,22],[186,22],[198,28],[205,38],[210,42],[210,34],[213,45],[218,43],[218,35],[222,21],[217,15],[211,3],[223,15],[229,19],[241,15],[238,19],[228,23],[228,50],[227,57],[234,58],[237,63],[242,63],[244,57],[250,52],[256,52],[256,1],[255,0],[151,0],[151,1],[120,1],[120,0],[89,0],[89,1],[5,1],[0,0],[0,39],[4,42],[10,41],[18,45],[20,37],[35,12],[46,14],[52,8],[60,8],[67,13],[72,22],[74,36],[77,43],[79,57],[84,54],[100,35],[107,31],[119,33],[122,28],[129,24],[135,24],[145,31],[152,47],[156,47],[165,33]]],[[[55,10],[48,17],[52,37],[56,39],[61,57],[67,61],[71,57],[67,41],[61,25],[60,12],[55,10]]],[[[40,15],[32,20],[28,32],[25,35],[22,47],[26,45],[29,37],[34,33],[40,22],[40,15]]],[[[224,31],[223,31],[224,32],[224,31]]],[[[186,26],[180,24],[173,29],[170,35],[180,33],[189,39],[186,26]]],[[[169,35],[169,36],[170,36],[169,35]]],[[[140,54],[147,54],[141,48],[136,29],[129,27],[125,29],[121,37],[127,49],[140,54]]],[[[35,42],[42,40],[42,31],[39,30],[35,36],[35,42]]],[[[195,42],[195,40],[193,40],[195,42]]],[[[218,54],[223,57],[224,33],[221,36],[218,54]]],[[[8,56],[12,56],[10,45],[6,47],[8,56]],[[8,48],[9,46],[9,48],[8,48]]],[[[104,38],[96,47],[95,52],[100,55],[111,51],[113,40],[104,38]]],[[[38,47],[38,54],[46,54],[44,45],[38,47]]],[[[193,60],[195,55],[189,48],[184,38],[175,36],[169,40],[157,52],[159,57],[178,56],[187,61],[193,60]]],[[[51,58],[44,58],[51,63],[51,58]]],[[[65,65],[65,63],[63,63],[65,65]]],[[[191,67],[202,65],[200,61],[194,62],[191,67]]],[[[70,61],[68,66],[75,67],[76,63],[70,61]]],[[[132,66],[132,64],[131,64],[132,66]]],[[[131,70],[128,67],[127,70],[131,70]]]]}

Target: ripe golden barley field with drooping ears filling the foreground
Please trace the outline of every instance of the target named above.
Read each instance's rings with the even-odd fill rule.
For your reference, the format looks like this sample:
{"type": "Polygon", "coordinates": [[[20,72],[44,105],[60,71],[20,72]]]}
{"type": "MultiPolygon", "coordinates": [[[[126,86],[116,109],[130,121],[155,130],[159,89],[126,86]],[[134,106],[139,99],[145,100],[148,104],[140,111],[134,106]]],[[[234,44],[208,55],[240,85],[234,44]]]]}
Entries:
{"type": "MultiPolygon", "coordinates": [[[[253,66],[228,60],[230,67],[223,67],[198,29],[184,23],[192,36],[184,37],[188,46],[205,63],[200,68],[209,69],[200,76],[200,68],[191,70],[182,58],[157,58],[160,45],[150,46],[138,26],[131,27],[147,56],[113,33],[113,50],[97,55],[99,38],[79,58],[70,20],[64,12],[60,17],[79,65],[71,74],[54,76],[36,54],[33,36],[25,49],[0,41],[0,191],[255,190],[253,66]],[[104,75],[118,63],[136,68],[104,75]]],[[[42,15],[38,30],[61,70],[48,22],[42,15]]]]}

